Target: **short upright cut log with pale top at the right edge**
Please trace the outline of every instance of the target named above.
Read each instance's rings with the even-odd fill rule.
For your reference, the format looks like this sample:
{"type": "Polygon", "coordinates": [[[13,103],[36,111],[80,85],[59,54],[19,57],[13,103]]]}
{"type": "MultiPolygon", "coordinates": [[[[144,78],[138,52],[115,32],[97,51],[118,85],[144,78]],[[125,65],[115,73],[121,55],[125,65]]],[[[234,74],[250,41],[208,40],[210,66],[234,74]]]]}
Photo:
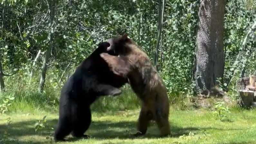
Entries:
{"type": "Polygon", "coordinates": [[[240,90],[239,94],[242,98],[243,106],[250,108],[254,99],[254,91],[240,90]]]}

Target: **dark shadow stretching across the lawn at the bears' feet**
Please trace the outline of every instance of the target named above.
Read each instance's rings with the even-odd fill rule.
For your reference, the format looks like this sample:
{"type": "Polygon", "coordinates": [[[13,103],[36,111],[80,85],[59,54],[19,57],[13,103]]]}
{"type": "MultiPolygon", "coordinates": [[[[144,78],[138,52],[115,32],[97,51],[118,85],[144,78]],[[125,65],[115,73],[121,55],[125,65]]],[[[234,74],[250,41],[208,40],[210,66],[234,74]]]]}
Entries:
{"type": "MultiPolygon", "coordinates": [[[[8,131],[10,134],[9,137],[17,138],[19,136],[49,136],[54,132],[51,129],[56,127],[58,120],[57,119],[50,119],[47,120],[47,124],[49,128],[44,128],[35,132],[34,124],[36,123],[35,120],[30,121],[22,121],[22,122],[15,122],[12,123],[9,127],[5,124],[0,125],[0,133],[3,134],[5,131],[8,131]]],[[[132,139],[132,134],[136,132],[136,124],[137,122],[130,122],[130,121],[122,121],[122,122],[111,122],[111,121],[96,121],[92,122],[90,128],[86,132],[94,139],[132,139]]],[[[197,127],[177,127],[175,125],[171,126],[171,136],[170,137],[179,137],[182,135],[188,135],[189,132],[196,131],[206,131],[206,130],[219,130],[219,131],[233,131],[233,130],[240,130],[240,129],[219,129],[213,127],[206,127],[206,128],[197,128],[197,127]]],[[[1,135],[0,135],[1,136],[1,135]]],[[[138,137],[136,139],[153,139],[159,138],[159,130],[156,124],[149,127],[147,134],[142,137],[138,137]]],[[[77,138],[68,138],[69,141],[78,140],[77,138]]],[[[20,142],[23,143],[23,142],[20,142]]]]}

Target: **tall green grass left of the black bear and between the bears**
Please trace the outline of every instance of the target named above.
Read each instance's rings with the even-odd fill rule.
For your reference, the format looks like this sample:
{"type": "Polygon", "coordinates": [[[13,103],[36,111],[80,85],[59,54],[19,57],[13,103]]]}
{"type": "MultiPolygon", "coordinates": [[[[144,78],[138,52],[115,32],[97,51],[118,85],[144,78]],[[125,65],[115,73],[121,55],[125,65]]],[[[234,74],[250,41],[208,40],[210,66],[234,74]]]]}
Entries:
{"type": "MultiPolygon", "coordinates": [[[[8,112],[58,111],[61,87],[56,89],[48,87],[41,94],[34,85],[24,86],[23,83],[17,82],[14,83],[14,86],[16,88],[0,93],[0,104],[4,104],[5,97],[14,97],[14,100],[10,101],[11,105],[8,106],[8,112]]],[[[125,85],[122,87],[121,95],[116,97],[102,96],[91,105],[91,109],[96,112],[131,110],[138,108],[139,105],[137,96],[130,90],[128,85],[125,85]]]]}

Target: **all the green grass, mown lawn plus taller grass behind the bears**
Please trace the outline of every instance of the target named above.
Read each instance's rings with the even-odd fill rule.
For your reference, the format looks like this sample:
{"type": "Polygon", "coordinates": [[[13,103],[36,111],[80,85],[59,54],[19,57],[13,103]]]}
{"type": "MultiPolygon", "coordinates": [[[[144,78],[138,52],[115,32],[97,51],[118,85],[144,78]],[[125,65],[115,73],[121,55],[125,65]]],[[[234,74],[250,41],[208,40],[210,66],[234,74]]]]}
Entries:
{"type": "MultiPolygon", "coordinates": [[[[61,85],[57,88],[47,87],[45,92],[40,94],[37,92],[37,86],[33,85],[34,83],[24,83],[20,79],[13,80],[12,85],[7,85],[9,89],[0,94],[0,104],[4,103],[5,97],[14,97],[14,100],[10,101],[8,111],[0,115],[0,144],[52,143],[46,137],[54,132],[51,128],[55,128],[58,121],[58,99],[61,85]],[[45,115],[47,115],[48,127],[35,132],[35,123],[45,115]],[[12,121],[9,125],[7,125],[8,118],[12,121]]],[[[218,117],[213,116],[211,111],[213,108],[211,110],[195,109],[188,99],[175,97],[175,105],[172,104],[169,117],[171,135],[159,138],[159,130],[152,122],[147,134],[135,139],[131,137],[131,134],[136,132],[139,108],[137,96],[125,86],[122,95],[101,97],[91,105],[93,122],[86,131],[86,134],[91,136],[90,139],[83,140],[68,136],[68,142],[59,143],[256,143],[256,110],[249,111],[232,107],[231,113],[227,113],[228,121],[221,122],[218,117]]]]}

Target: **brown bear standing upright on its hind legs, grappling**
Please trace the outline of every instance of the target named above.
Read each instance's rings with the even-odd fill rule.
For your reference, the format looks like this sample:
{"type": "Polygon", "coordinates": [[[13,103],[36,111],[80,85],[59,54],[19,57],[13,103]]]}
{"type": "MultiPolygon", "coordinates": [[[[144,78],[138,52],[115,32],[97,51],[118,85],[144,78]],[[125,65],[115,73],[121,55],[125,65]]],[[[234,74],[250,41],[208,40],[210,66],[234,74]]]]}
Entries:
{"type": "Polygon", "coordinates": [[[108,63],[114,74],[127,77],[133,91],[142,101],[138,119],[138,132],[135,136],[144,135],[150,120],[154,120],[160,129],[160,136],[170,134],[169,100],[162,78],[147,55],[127,37],[123,36],[108,40],[107,50],[114,50],[119,56],[101,53],[100,56],[108,63]]]}

